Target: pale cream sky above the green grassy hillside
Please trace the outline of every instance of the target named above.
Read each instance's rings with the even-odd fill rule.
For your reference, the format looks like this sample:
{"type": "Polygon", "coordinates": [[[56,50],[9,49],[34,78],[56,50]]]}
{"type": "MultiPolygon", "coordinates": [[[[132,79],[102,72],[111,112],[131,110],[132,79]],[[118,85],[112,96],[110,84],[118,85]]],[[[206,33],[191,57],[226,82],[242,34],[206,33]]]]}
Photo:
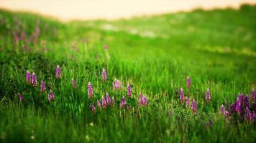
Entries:
{"type": "Polygon", "coordinates": [[[129,19],[133,16],[163,14],[193,9],[214,9],[256,0],[0,0],[0,8],[30,11],[63,21],[86,19],[129,19]]]}

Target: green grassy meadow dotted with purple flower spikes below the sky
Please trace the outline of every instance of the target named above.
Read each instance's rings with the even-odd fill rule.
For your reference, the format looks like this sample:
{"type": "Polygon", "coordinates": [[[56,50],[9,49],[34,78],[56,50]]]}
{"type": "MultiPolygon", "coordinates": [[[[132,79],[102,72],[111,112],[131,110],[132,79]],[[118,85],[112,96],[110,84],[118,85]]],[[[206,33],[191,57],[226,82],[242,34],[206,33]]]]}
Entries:
{"type": "Polygon", "coordinates": [[[0,142],[256,142],[256,6],[70,21],[0,9],[0,142]]]}

